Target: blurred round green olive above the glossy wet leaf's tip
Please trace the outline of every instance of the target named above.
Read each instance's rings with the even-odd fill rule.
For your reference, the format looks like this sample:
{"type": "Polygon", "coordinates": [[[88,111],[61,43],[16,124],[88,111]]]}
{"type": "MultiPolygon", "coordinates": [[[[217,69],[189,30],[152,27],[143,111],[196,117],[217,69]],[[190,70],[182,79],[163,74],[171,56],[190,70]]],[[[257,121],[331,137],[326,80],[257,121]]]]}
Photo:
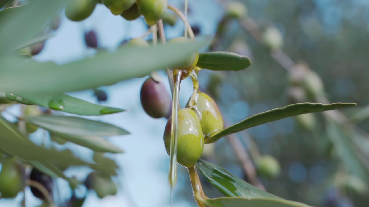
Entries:
{"type": "Polygon", "coordinates": [[[266,178],[276,178],[280,174],[280,165],[276,158],[270,155],[263,155],[256,162],[256,171],[266,178]]]}

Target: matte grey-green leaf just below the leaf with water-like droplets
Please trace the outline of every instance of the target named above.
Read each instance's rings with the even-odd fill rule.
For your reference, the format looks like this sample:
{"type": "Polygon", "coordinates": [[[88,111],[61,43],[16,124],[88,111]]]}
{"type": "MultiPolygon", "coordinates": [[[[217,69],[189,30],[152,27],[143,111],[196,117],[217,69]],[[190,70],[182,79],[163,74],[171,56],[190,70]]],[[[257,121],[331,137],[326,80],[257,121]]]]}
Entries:
{"type": "Polygon", "coordinates": [[[112,124],[73,116],[28,116],[31,122],[44,129],[73,135],[114,136],[129,134],[128,131],[112,124]]]}

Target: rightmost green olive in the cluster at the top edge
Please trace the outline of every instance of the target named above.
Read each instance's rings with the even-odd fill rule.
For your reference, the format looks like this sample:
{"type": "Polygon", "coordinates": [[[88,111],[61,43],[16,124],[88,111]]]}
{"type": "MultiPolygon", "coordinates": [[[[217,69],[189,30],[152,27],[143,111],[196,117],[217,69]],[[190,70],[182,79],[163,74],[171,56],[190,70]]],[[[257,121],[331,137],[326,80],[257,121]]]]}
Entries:
{"type": "Polygon", "coordinates": [[[149,26],[156,24],[166,13],[167,0],[137,0],[138,11],[144,15],[149,26]]]}

